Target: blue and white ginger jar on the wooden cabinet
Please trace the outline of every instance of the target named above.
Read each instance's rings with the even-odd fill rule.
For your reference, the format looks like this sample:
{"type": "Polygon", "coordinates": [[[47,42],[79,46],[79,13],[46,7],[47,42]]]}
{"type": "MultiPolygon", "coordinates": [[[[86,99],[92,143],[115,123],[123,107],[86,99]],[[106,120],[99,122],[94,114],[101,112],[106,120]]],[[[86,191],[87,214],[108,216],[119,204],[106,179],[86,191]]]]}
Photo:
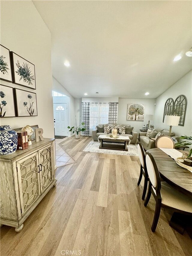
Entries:
{"type": "Polygon", "coordinates": [[[9,155],[17,149],[18,136],[10,125],[0,126],[0,155],[9,155]]]}

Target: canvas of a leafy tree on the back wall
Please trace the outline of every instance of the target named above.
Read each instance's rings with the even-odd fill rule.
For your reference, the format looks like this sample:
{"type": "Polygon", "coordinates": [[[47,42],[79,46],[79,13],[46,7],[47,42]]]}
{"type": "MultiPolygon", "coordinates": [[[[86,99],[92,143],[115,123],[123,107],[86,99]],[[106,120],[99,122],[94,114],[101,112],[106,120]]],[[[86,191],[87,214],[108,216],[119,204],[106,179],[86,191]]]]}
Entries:
{"type": "Polygon", "coordinates": [[[127,120],[143,121],[145,104],[128,104],[127,120]]]}

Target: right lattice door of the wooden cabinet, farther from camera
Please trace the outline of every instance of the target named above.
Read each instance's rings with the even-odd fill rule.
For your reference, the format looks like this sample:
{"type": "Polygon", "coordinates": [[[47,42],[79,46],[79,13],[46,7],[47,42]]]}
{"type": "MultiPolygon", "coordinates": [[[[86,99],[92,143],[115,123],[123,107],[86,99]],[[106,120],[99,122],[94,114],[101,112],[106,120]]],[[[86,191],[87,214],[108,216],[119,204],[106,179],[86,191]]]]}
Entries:
{"type": "Polygon", "coordinates": [[[52,156],[52,145],[39,150],[39,166],[40,166],[40,180],[41,193],[49,186],[54,179],[54,165],[52,156]]]}

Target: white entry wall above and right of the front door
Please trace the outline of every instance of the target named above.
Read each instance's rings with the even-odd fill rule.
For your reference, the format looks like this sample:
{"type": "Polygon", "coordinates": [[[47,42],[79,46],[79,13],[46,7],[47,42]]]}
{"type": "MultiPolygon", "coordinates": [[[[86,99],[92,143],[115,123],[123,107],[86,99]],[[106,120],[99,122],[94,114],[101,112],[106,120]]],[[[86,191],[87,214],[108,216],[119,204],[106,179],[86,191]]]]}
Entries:
{"type": "MultiPolygon", "coordinates": [[[[70,127],[75,126],[75,99],[73,96],[70,95],[69,92],[54,78],[52,77],[53,80],[53,91],[62,93],[68,97],[53,97],[53,98],[65,98],[66,101],[68,102],[68,125],[70,127]]],[[[63,99],[64,100],[64,99],[63,99]]],[[[56,101],[56,99],[54,99],[56,101]]],[[[58,101],[58,99],[57,99],[58,101]]],[[[56,103],[56,102],[55,102],[56,103]]],[[[64,102],[63,102],[64,103],[64,102]]],[[[77,120],[77,122],[79,122],[77,120]]],[[[68,135],[72,135],[73,132],[69,132],[68,135]]]]}

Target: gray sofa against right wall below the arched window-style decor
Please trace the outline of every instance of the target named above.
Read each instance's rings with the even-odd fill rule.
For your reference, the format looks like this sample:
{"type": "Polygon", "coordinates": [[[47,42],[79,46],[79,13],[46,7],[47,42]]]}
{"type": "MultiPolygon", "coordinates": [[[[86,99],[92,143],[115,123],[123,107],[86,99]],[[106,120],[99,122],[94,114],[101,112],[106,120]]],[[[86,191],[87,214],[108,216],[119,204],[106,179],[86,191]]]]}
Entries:
{"type": "MultiPolygon", "coordinates": [[[[163,128],[157,128],[155,129],[157,132],[161,132],[163,133],[164,135],[167,135],[169,136],[169,131],[166,130],[166,129],[163,129],[163,128]]],[[[148,149],[153,149],[155,148],[155,141],[154,140],[151,140],[149,137],[146,136],[146,132],[139,132],[139,142],[141,142],[143,148],[145,150],[148,150],[148,149]]],[[[176,140],[179,141],[179,137],[178,136],[175,136],[175,133],[172,132],[171,133],[171,137],[174,137],[176,138],[176,140]]]]}

